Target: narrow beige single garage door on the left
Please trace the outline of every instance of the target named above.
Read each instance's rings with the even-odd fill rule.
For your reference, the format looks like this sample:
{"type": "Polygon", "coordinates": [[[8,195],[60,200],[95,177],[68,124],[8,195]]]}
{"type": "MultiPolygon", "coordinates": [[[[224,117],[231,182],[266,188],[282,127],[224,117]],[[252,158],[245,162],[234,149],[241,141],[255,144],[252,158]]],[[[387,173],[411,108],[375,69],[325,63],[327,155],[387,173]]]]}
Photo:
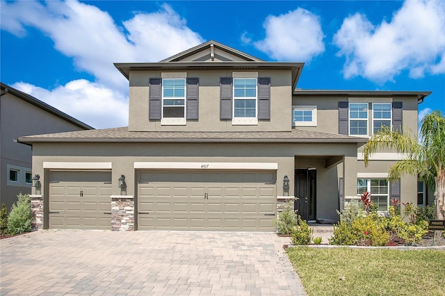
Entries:
{"type": "Polygon", "coordinates": [[[111,229],[111,172],[49,172],[50,229],[111,229]]]}

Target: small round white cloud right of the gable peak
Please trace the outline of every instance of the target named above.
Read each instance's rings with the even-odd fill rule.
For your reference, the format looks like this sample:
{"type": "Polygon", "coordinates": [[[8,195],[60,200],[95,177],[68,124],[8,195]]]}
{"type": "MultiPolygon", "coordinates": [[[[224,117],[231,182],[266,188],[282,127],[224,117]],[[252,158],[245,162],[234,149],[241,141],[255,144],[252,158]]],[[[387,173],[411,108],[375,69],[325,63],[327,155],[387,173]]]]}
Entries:
{"type": "Polygon", "coordinates": [[[309,62],[325,51],[320,19],[305,9],[269,15],[263,26],[266,38],[254,42],[254,47],[275,60],[309,62]]]}

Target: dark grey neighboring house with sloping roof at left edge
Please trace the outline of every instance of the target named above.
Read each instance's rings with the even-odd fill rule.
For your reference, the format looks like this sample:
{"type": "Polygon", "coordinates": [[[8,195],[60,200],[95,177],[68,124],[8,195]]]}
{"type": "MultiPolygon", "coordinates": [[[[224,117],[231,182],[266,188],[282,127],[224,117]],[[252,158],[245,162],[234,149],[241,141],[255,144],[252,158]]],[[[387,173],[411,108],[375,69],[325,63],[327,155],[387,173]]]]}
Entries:
{"type": "Polygon", "coordinates": [[[92,127],[9,85],[0,86],[0,203],[9,210],[20,192],[31,193],[34,176],[32,148],[17,138],[92,127]]]}

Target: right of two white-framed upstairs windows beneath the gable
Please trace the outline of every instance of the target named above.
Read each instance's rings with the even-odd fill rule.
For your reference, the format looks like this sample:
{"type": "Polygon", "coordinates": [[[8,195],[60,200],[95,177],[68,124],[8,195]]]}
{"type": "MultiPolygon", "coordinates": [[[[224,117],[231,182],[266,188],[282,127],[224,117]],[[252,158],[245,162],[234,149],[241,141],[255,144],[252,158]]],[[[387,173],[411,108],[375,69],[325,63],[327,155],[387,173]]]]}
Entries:
{"type": "Polygon", "coordinates": [[[234,79],[234,117],[257,117],[257,79],[234,79]]]}

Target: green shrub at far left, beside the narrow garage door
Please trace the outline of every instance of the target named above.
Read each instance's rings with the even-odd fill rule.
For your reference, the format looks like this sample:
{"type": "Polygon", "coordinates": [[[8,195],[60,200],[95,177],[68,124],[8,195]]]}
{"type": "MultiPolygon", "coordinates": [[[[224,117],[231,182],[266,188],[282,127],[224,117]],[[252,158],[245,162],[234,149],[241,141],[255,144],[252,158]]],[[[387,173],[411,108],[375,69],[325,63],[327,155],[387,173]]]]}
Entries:
{"type": "Polygon", "coordinates": [[[17,204],[13,204],[8,217],[9,234],[18,234],[31,231],[33,215],[29,195],[17,195],[17,204]]]}

